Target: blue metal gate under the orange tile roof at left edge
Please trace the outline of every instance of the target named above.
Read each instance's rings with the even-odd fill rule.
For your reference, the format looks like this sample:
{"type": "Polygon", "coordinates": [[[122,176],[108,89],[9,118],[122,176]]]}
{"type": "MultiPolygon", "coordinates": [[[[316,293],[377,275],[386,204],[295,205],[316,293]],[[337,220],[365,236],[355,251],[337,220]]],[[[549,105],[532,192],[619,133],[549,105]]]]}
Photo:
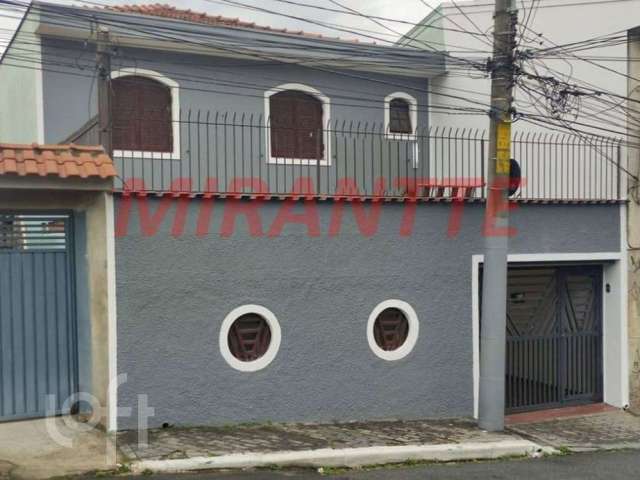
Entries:
{"type": "Polygon", "coordinates": [[[0,213],[0,421],[68,413],[77,392],[72,229],[0,213]]]}

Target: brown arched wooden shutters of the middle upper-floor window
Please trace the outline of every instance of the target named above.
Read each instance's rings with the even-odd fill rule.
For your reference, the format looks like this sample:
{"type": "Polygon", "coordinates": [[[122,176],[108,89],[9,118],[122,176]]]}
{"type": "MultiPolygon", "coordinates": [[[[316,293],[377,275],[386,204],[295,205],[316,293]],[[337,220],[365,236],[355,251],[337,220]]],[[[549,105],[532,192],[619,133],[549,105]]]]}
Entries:
{"type": "Polygon", "coordinates": [[[324,157],[322,101],[288,90],[269,98],[271,156],[283,159],[324,157]]]}

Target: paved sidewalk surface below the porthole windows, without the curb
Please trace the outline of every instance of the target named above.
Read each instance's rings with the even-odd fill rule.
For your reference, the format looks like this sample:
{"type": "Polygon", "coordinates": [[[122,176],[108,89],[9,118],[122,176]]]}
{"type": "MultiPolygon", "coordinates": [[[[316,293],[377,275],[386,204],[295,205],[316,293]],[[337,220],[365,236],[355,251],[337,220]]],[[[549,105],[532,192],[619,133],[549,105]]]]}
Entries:
{"type": "Polygon", "coordinates": [[[118,434],[118,447],[131,460],[210,457],[231,453],[283,452],[375,446],[439,445],[510,440],[486,433],[470,419],[233,425],[167,428],[118,434]]]}

